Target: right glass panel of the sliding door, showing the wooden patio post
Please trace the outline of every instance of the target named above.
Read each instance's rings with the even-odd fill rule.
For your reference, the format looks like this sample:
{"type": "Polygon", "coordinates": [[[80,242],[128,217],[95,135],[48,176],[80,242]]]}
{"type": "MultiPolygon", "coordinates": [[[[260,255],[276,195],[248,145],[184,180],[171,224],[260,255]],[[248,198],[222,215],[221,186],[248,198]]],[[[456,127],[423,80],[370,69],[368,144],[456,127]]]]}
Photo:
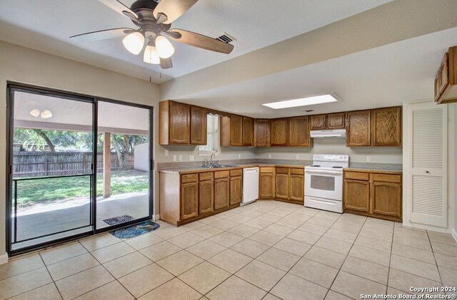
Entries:
{"type": "Polygon", "coordinates": [[[149,216],[149,109],[98,102],[96,228],[149,216]],[[116,116],[116,118],[114,118],[116,116]]]}

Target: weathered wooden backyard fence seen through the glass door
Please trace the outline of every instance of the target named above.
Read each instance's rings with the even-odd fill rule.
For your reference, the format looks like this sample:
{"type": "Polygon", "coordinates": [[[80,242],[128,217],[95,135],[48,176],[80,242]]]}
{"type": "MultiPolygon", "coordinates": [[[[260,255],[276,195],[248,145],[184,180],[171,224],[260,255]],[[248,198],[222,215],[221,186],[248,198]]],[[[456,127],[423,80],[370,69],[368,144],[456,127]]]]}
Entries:
{"type": "MultiPolygon", "coordinates": [[[[91,172],[91,152],[14,152],[14,177],[71,175],[91,172]]],[[[119,160],[111,152],[111,170],[117,170],[119,160]]],[[[129,154],[129,168],[134,168],[134,154],[129,154]]],[[[97,172],[103,172],[103,154],[97,154],[97,172]]]]}

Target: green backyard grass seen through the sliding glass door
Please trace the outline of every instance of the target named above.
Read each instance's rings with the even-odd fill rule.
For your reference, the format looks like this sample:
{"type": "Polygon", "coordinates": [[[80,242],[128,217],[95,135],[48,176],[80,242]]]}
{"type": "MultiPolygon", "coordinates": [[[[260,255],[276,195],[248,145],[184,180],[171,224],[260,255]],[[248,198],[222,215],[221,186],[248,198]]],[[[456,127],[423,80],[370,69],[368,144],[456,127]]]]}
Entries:
{"type": "MultiPolygon", "coordinates": [[[[89,185],[89,176],[19,181],[18,205],[89,198],[89,185]]],[[[147,191],[148,187],[147,172],[136,170],[111,172],[111,195],[147,191]]],[[[97,175],[97,196],[103,196],[103,175],[101,174],[97,175]]]]}

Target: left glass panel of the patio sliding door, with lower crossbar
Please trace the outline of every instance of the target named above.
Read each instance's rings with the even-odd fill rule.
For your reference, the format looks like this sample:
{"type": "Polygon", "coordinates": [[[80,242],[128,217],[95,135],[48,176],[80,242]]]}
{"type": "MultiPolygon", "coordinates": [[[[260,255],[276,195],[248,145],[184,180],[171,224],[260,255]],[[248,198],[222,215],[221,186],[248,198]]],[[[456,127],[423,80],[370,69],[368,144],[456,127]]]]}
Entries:
{"type": "Polygon", "coordinates": [[[92,230],[94,103],[10,90],[11,250],[92,230]]]}

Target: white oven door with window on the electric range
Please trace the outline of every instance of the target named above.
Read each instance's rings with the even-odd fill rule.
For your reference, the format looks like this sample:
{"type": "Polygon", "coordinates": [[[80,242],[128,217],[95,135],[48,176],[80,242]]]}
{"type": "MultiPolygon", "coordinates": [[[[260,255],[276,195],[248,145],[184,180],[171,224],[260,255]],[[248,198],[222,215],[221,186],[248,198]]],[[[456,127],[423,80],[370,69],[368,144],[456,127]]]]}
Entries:
{"type": "Polygon", "coordinates": [[[343,201],[343,172],[305,169],[305,195],[343,201]]]}

